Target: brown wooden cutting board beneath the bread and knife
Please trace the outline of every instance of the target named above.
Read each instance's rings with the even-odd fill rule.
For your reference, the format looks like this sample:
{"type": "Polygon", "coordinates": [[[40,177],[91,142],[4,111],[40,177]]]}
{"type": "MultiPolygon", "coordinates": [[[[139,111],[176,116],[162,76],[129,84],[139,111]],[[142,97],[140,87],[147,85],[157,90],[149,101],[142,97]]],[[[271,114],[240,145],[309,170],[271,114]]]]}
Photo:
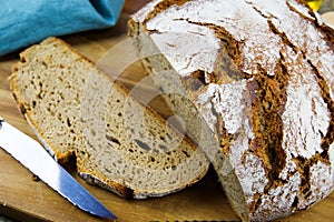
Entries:
{"type": "MultiPolygon", "coordinates": [[[[94,62],[126,37],[127,16],[122,16],[119,24],[112,29],[84,32],[63,37],[79,52],[94,62]]],[[[125,52],[118,51],[119,58],[125,52]]],[[[18,61],[13,53],[0,58],[0,115],[9,123],[36,139],[29,125],[22,119],[9,91],[8,77],[11,65],[18,61]]],[[[144,73],[138,63],[124,70],[121,80],[131,85],[144,73]]],[[[158,112],[165,112],[159,105],[158,112]]],[[[168,113],[168,111],[166,111],[168,113]]],[[[85,183],[75,173],[75,164],[66,169],[98,200],[110,209],[118,221],[238,221],[220,189],[217,178],[209,172],[199,183],[176,194],[149,200],[125,200],[116,194],[85,183]]],[[[333,221],[334,194],[326,198],[312,209],[298,212],[279,221],[333,221]]],[[[0,149],[0,214],[20,221],[104,221],[80,211],[67,200],[49,189],[42,181],[33,181],[32,174],[7,152],[0,149]]]]}

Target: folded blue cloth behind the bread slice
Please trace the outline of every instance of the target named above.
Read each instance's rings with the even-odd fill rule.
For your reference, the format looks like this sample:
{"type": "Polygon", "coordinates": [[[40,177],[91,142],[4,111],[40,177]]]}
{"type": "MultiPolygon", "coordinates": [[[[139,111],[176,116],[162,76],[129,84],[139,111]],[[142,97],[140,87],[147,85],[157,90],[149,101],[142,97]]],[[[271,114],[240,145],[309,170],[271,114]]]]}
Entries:
{"type": "Polygon", "coordinates": [[[0,7],[0,56],[47,37],[116,24],[124,0],[9,0],[0,7]]]}

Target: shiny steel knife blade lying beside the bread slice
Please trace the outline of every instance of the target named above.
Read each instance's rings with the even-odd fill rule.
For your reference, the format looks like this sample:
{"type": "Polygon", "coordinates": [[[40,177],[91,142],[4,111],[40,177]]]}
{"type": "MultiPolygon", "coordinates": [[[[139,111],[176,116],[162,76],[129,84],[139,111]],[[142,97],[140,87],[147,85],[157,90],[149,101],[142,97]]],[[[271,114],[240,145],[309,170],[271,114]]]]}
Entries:
{"type": "Polygon", "coordinates": [[[40,143],[10,125],[1,117],[0,147],[79,209],[99,218],[116,219],[116,215],[58,164],[40,143]]]}

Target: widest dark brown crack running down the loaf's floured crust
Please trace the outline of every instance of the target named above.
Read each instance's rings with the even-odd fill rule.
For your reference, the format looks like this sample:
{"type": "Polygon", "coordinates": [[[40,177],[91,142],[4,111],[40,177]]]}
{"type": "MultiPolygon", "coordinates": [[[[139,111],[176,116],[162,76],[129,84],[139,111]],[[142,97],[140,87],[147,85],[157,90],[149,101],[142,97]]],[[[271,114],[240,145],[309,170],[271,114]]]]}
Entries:
{"type": "Polygon", "coordinates": [[[286,164],[286,154],[282,148],[283,122],[281,115],[287,99],[287,80],[286,68],[279,63],[274,77],[263,70],[247,84],[252,98],[252,125],[255,134],[249,149],[263,160],[268,179],[263,194],[254,196],[254,202],[248,206],[249,212],[256,211],[262,195],[265,195],[271,189],[286,183],[279,179],[279,173],[286,164]]]}

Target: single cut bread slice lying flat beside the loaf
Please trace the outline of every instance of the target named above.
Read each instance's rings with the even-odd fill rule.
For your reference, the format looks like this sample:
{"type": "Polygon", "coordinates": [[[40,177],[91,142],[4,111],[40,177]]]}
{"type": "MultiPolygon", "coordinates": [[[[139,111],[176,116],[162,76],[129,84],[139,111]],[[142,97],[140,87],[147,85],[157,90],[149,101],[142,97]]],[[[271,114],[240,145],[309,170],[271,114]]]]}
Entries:
{"type": "Polygon", "coordinates": [[[21,112],[56,160],[76,157],[88,182],[145,199],[176,192],[207,172],[199,149],[60,39],[20,57],[11,90],[21,112]]]}

